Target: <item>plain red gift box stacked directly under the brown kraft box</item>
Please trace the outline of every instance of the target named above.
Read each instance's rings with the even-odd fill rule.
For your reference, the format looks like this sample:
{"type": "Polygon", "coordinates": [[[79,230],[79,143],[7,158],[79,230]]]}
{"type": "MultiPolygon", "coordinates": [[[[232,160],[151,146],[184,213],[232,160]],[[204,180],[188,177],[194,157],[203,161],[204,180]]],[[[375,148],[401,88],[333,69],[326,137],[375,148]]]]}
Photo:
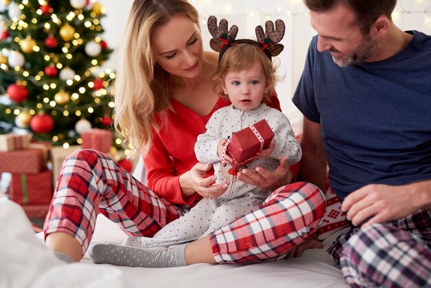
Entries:
{"type": "Polygon", "coordinates": [[[0,172],[34,174],[45,167],[43,151],[40,149],[0,152],[0,172]]]}

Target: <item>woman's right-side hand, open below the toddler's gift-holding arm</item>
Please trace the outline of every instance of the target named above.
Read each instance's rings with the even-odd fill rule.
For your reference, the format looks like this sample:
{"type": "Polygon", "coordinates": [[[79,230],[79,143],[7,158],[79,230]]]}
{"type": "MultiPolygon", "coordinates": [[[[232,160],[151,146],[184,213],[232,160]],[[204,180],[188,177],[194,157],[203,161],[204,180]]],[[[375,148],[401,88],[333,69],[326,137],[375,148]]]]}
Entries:
{"type": "Polygon", "coordinates": [[[293,174],[289,170],[286,156],[280,159],[280,165],[274,171],[257,167],[256,172],[250,169],[242,169],[236,176],[240,181],[270,190],[287,185],[293,180],[293,174]]]}

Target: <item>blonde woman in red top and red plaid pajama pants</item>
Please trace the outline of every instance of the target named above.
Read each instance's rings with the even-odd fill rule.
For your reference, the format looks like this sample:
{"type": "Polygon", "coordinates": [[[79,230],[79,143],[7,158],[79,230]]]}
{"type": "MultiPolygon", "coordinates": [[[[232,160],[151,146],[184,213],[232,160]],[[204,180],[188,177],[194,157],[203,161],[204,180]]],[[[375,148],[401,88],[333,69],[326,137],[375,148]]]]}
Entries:
{"type": "MultiPolygon", "coordinates": [[[[45,220],[45,242],[57,255],[74,261],[82,258],[98,212],[129,235],[152,236],[202,197],[217,198],[227,189],[227,182],[211,185],[215,177],[204,178],[212,174],[211,165],[197,163],[193,152],[196,138],[204,132],[211,114],[229,105],[213,92],[210,81],[218,55],[204,52],[202,47],[198,13],[187,1],[134,2],[118,61],[115,125],[132,143],[135,153],[145,155],[152,191],[107,156],[94,150],[74,152],[63,163],[45,220]]],[[[276,97],[270,105],[280,109],[276,97]]],[[[275,172],[257,172],[244,170],[238,178],[271,189],[293,178],[285,158],[275,172]]],[[[209,237],[189,243],[185,262],[281,258],[313,232],[324,213],[321,192],[311,184],[288,185],[277,189],[270,198],[257,212],[269,213],[271,219],[259,218],[253,212],[247,216],[258,217],[255,220],[239,219],[209,237]],[[286,201],[293,192],[296,198],[286,201]],[[301,205],[304,207],[298,207],[301,205]],[[292,215],[288,210],[293,206],[308,213],[292,215]],[[244,220],[249,224],[244,225],[244,220]],[[256,220],[266,228],[254,231],[250,222],[256,220]],[[270,227],[267,223],[271,223],[270,227]],[[304,228],[299,233],[297,229],[288,231],[299,226],[304,228]],[[238,240],[245,248],[235,245],[240,249],[233,251],[229,247],[233,243],[222,241],[233,231],[241,235],[233,242],[238,240]]]]}

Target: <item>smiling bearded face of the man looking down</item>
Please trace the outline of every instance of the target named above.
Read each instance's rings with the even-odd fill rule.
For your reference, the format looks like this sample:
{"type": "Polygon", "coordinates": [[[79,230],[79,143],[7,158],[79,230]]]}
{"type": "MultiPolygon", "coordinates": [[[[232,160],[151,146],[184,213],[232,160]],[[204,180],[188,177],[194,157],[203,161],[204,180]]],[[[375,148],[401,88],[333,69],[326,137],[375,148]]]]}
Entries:
{"type": "Polygon", "coordinates": [[[379,42],[363,34],[356,16],[343,5],[326,12],[311,11],[311,25],[319,34],[317,50],[329,51],[340,67],[372,61],[379,42]]]}

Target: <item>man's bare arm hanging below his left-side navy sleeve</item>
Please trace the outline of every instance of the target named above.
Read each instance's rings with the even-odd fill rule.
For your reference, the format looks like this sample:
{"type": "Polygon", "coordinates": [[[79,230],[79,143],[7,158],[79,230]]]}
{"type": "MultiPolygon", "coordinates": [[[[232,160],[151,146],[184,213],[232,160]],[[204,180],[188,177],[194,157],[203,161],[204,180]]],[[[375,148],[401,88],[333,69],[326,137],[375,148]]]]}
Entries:
{"type": "Polygon", "coordinates": [[[308,120],[305,116],[301,146],[302,160],[299,180],[313,183],[324,191],[326,154],[320,136],[320,124],[308,120]]]}

